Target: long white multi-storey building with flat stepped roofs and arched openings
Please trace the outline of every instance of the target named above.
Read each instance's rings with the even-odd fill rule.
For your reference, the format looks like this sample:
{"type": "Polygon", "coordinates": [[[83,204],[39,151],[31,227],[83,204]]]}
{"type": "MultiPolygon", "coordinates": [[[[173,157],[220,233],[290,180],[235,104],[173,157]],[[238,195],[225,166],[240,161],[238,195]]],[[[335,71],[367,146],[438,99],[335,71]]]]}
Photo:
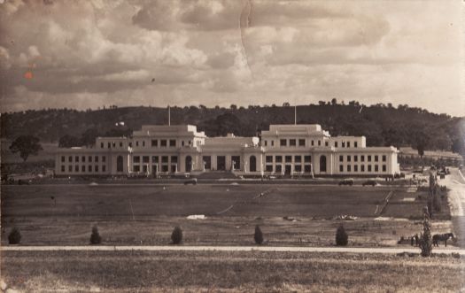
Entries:
{"type": "Polygon", "coordinates": [[[259,137],[207,137],[191,125],[143,126],[132,137],[97,137],[91,148],[58,149],[58,175],[162,175],[231,171],[244,175],[399,173],[398,150],[367,147],[320,125],[270,125],[259,137]]]}

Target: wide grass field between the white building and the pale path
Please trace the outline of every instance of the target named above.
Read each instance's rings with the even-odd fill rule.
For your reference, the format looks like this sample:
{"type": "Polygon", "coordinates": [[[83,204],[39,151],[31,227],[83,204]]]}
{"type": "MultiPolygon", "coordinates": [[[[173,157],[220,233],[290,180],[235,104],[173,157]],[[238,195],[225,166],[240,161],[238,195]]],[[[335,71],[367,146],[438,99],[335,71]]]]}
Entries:
{"type": "MultiPolygon", "coordinates": [[[[326,246],[333,245],[342,222],[334,217],[349,214],[361,217],[344,221],[349,245],[392,246],[422,227],[418,220],[373,220],[391,191],[391,204],[383,217],[420,218],[424,201],[403,199],[422,192],[411,194],[404,189],[267,184],[170,185],[166,189],[3,186],[2,244],[13,226],[19,227],[25,245],[86,244],[93,225],[107,244],[167,244],[173,227],[181,225],[186,245],[247,245],[252,244],[255,225],[260,225],[269,245],[326,246]],[[187,220],[190,214],[205,214],[207,219],[187,220]]],[[[440,216],[447,217],[446,209],[440,216]]],[[[450,221],[433,221],[433,233],[450,229],[450,221]]]]}

